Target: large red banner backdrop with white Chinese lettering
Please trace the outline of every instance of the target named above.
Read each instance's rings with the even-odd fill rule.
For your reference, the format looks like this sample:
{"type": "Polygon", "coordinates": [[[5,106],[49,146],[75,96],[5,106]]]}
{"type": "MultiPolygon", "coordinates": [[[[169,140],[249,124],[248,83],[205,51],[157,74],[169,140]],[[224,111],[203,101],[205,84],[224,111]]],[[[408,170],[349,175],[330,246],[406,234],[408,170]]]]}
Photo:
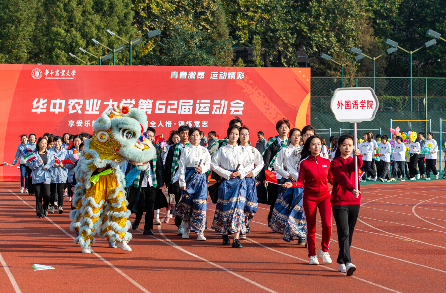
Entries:
{"type": "MultiPolygon", "coordinates": [[[[12,163],[21,134],[92,133],[116,104],[147,113],[157,135],[179,125],[226,136],[239,116],[250,132],[277,135],[277,120],[310,124],[310,68],[0,65],[0,162],[12,163]]],[[[19,181],[16,166],[0,181],[19,181]]]]}

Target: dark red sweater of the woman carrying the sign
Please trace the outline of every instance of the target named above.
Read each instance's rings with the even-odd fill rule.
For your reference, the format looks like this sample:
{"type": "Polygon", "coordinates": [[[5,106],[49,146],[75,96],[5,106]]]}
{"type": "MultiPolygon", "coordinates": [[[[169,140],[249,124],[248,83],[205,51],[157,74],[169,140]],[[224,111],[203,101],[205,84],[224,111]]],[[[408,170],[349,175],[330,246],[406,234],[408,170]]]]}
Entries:
{"type": "MultiPolygon", "coordinates": [[[[363,165],[362,156],[358,157],[358,169],[363,165]]],[[[352,191],[355,189],[355,161],[352,157],[344,159],[335,158],[330,165],[328,181],[333,186],[331,190],[331,206],[360,205],[361,194],[355,198],[352,191]]],[[[361,190],[358,179],[358,190],[361,190]]]]}

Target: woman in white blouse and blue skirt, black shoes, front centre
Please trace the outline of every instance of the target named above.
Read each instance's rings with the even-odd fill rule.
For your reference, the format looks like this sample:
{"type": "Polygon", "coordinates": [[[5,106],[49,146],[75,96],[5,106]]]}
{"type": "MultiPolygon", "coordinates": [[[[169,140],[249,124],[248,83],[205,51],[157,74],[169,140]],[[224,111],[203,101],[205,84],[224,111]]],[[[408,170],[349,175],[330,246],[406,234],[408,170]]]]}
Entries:
{"type": "Polygon", "coordinates": [[[232,125],[227,129],[228,143],[222,146],[211,161],[211,168],[223,182],[218,190],[212,229],[223,233],[223,245],[229,245],[228,234],[234,234],[233,248],[243,248],[240,234],[246,233],[244,209],[246,202],[246,180],[244,177],[254,169],[254,164],[246,164],[244,149],[237,145],[240,128],[232,125]]]}

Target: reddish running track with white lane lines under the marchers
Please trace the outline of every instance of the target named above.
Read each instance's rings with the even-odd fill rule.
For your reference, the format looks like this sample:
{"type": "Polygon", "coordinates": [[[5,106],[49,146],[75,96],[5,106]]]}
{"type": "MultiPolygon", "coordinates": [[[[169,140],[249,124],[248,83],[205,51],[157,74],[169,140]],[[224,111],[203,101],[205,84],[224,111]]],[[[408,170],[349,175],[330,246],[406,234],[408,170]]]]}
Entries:
{"type": "MultiPolygon", "coordinates": [[[[37,219],[34,196],[18,193],[17,183],[0,183],[0,253],[7,265],[0,268],[0,292],[446,292],[446,181],[413,183],[363,186],[353,277],[337,271],[334,219],[333,263],[318,266],[308,265],[306,248],[268,228],[265,205],[243,249],[222,246],[211,230],[206,241],[196,234],[182,239],[171,219],[154,236],[132,231],[132,252],[99,238],[96,253],[82,254],[68,211],[37,219]],[[35,263],[55,269],[34,271],[35,263]]],[[[214,208],[208,204],[208,227],[214,208]]]]}

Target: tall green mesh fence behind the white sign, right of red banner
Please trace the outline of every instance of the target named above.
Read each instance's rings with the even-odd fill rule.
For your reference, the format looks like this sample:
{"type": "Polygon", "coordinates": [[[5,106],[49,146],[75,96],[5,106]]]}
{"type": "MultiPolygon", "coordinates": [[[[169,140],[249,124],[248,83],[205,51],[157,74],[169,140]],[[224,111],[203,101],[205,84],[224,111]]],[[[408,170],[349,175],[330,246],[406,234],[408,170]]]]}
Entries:
{"type": "MultiPolygon", "coordinates": [[[[427,133],[430,130],[440,149],[444,148],[446,121],[442,120],[446,120],[446,78],[312,77],[311,125],[326,139],[328,132],[337,136],[339,131],[348,132],[353,128],[351,123],[336,121],[330,110],[331,97],[339,87],[372,87],[380,101],[375,120],[358,124],[360,137],[362,132],[368,131],[389,135],[389,128],[397,126],[405,132],[427,133]]],[[[441,155],[441,151],[439,153],[441,155]]]]}

